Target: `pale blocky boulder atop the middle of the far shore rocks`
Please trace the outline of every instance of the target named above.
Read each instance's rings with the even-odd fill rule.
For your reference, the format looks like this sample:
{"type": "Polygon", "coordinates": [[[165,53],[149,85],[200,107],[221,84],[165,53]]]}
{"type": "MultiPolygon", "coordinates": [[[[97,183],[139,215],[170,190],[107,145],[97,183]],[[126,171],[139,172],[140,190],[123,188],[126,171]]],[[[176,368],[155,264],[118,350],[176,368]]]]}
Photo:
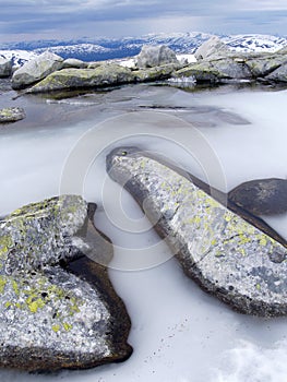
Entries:
{"type": "Polygon", "coordinates": [[[160,67],[170,63],[180,64],[174,50],[165,45],[144,45],[135,60],[135,65],[141,69],[160,67]]]}

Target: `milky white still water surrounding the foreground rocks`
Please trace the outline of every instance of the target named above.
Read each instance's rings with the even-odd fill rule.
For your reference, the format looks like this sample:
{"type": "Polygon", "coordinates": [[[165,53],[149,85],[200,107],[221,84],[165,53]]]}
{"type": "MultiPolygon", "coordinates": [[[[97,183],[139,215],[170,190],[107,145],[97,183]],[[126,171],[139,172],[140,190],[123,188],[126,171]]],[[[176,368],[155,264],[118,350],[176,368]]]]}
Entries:
{"type": "MultiPolygon", "coordinates": [[[[136,145],[228,191],[286,172],[287,91],[187,92],[134,85],[73,98],[34,96],[27,118],[0,129],[0,215],[60,192],[98,204],[96,225],[115,243],[110,277],[132,319],[132,357],[57,375],[1,371],[5,381],[285,382],[287,321],[249,318],[183,276],[127,192],[105,172],[105,156],[136,145]]],[[[287,216],[266,219],[287,238],[287,216]]]]}

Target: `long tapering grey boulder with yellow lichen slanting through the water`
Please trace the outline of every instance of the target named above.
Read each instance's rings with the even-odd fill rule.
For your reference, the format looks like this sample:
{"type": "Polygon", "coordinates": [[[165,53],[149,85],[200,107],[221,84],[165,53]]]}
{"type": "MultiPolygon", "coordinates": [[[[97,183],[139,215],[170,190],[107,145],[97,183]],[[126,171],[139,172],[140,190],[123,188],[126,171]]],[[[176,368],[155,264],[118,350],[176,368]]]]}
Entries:
{"type": "Polygon", "coordinates": [[[176,171],[133,147],[107,157],[184,272],[235,310],[287,314],[287,249],[176,171]]]}

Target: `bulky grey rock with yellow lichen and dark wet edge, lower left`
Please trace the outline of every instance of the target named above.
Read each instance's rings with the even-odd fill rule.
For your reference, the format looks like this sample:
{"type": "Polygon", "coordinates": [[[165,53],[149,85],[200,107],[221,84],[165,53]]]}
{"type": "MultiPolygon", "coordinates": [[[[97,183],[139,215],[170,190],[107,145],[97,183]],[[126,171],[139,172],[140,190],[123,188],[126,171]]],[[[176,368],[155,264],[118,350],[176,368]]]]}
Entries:
{"type": "Polygon", "coordinates": [[[0,367],[81,369],[131,354],[129,317],[106,267],[83,258],[112,255],[106,238],[92,247],[100,241],[87,214],[81,196],[62,195],[0,222],[0,367]]]}

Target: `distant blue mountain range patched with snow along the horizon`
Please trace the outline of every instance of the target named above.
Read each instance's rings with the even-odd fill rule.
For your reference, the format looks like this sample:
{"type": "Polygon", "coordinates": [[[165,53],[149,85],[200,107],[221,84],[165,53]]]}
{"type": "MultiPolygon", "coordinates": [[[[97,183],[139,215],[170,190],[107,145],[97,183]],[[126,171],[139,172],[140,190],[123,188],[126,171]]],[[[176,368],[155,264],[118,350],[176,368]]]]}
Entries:
{"type": "MultiPolygon", "coordinates": [[[[101,61],[137,55],[143,45],[164,44],[177,53],[193,53],[213,35],[205,33],[150,34],[142,37],[81,38],[75,40],[37,40],[0,45],[0,57],[11,58],[14,65],[21,65],[31,58],[50,50],[62,58],[77,58],[83,61],[101,61]]],[[[287,45],[286,37],[270,35],[218,36],[237,51],[275,51],[287,45]]]]}

